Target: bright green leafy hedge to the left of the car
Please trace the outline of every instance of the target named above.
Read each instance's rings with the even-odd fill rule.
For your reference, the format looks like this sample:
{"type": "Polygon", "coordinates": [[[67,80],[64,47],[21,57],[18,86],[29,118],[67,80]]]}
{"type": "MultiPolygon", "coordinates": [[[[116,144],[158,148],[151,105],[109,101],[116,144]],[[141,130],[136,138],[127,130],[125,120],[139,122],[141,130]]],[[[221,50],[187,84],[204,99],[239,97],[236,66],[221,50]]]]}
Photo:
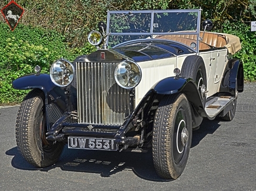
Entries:
{"type": "Polygon", "coordinates": [[[0,105],[19,103],[26,91],[12,88],[17,77],[33,73],[36,65],[48,73],[52,62],[59,58],[74,60],[92,51],[90,46],[70,50],[65,38],[54,30],[19,24],[14,31],[0,23],[0,105]]]}

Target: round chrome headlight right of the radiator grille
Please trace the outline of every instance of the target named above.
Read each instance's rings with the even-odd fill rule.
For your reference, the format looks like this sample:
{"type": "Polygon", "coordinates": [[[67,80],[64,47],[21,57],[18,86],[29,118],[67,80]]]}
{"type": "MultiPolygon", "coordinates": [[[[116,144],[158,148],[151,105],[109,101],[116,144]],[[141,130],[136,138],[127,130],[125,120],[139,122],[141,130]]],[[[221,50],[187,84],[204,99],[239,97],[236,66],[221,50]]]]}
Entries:
{"type": "Polygon", "coordinates": [[[125,89],[136,87],[141,80],[141,69],[137,63],[126,60],[118,64],[115,79],[119,86],[125,89]]]}

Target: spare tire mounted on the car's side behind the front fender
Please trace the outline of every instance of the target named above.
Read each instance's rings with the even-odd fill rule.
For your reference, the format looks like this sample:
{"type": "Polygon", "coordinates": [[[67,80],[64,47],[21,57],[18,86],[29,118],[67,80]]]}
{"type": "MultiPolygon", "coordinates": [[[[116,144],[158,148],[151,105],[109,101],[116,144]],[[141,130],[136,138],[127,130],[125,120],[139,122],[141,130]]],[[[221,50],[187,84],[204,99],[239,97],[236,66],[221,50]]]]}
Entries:
{"type": "Polygon", "coordinates": [[[201,95],[202,103],[205,106],[206,95],[203,95],[204,93],[202,92],[201,88],[204,84],[205,91],[207,90],[207,76],[202,57],[199,57],[198,55],[188,56],[183,62],[180,75],[183,77],[190,77],[195,81],[201,95]]]}

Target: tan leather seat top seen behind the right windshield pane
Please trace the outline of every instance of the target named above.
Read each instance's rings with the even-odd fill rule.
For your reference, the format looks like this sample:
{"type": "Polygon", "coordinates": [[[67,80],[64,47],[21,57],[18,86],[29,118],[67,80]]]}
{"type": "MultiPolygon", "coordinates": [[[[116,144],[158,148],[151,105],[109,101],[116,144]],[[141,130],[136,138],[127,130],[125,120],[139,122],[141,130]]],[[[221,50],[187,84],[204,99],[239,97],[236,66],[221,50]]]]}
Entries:
{"type": "MultiPolygon", "coordinates": [[[[162,35],[162,36],[158,36],[155,38],[181,42],[183,44],[186,44],[186,46],[188,46],[188,47],[191,47],[192,42],[196,43],[196,40],[188,39],[188,38],[184,38],[184,37],[176,37],[173,35],[162,35]]],[[[210,47],[207,44],[205,44],[203,42],[199,42],[199,50],[207,50],[207,49],[210,49],[210,47]]]]}

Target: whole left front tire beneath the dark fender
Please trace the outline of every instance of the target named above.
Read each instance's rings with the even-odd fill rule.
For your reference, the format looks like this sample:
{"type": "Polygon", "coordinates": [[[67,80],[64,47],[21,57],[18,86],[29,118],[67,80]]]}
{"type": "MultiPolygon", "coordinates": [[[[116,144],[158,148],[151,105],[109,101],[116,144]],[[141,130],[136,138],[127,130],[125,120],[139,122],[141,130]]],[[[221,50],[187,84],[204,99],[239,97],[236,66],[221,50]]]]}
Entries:
{"type": "Polygon", "coordinates": [[[36,167],[58,161],[64,143],[47,141],[44,94],[34,89],[21,103],[16,120],[16,142],[24,158],[36,167]]]}

